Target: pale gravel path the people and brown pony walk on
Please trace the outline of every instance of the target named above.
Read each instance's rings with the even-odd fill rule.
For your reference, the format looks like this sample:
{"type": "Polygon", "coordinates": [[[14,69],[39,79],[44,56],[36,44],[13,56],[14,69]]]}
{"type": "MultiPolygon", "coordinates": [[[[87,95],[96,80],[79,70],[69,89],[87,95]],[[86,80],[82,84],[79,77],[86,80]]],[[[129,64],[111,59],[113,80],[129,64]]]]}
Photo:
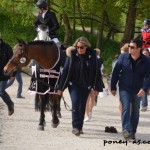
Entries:
{"type": "MultiPolygon", "coordinates": [[[[111,95],[98,99],[93,109],[93,118],[84,124],[84,134],[76,137],[72,134],[71,112],[62,107],[62,118],[57,128],[51,127],[51,114],[46,113],[45,131],[37,130],[39,112],[34,111],[34,95],[27,91],[30,77],[23,76],[23,96],[16,98],[17,82],[7,90],[15,103],[15,113],[7,115],[7,107],[0,101],[0,150],[150,150],[150,110],[142,112],[138,127],[138,140],[146,142],[121,143],[121,122],[118,113],[118,98],[111,95]],[[114,126],[118,133],[105,133],[106,126],[114,126]],[[120,142],[114,143],[113,142],[120,142]],[[105,143],[104,146],[104,142],[105,143]]],[[[64,97],[70,105],[67,90],[64,97]]]]}

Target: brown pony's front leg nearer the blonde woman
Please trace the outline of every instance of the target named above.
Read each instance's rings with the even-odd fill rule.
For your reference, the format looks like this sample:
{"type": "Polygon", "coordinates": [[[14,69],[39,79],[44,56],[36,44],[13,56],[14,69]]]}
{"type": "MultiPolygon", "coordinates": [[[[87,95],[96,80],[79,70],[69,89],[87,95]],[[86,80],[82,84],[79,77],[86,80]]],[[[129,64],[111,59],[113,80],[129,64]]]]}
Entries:
{"type": "Polygon", "coordinates": [[[57,117],[57,100],[60,96],[56,94],[50,95],[50,102],[52,107],[52,127],[56,128],[59,125],[59,119],[57,117]]]}

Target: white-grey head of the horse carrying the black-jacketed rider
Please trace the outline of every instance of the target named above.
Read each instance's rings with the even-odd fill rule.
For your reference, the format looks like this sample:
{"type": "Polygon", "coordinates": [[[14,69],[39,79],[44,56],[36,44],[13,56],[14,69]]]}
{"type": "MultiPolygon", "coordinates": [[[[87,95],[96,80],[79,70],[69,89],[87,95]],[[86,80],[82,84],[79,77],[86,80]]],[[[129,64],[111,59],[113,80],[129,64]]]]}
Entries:
{"type": "Polygon", "coordinates": [[[37,28],[37,37],[35,40],[50,41],[49,28],[45,25],[39,25],[37,28]]]}

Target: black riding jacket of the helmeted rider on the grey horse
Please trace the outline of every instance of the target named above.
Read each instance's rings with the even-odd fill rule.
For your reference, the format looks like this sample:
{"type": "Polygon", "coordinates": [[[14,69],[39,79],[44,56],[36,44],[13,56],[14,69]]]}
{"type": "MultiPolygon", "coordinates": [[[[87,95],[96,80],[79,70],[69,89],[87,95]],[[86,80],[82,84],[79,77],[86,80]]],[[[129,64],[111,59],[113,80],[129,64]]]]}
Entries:
{"type": "Polygon", "coordinates": [[[35,30],[39,25],[46,25],[49,27],[49,36],[52,39],[57,37],[55,32],[59,29],[60,25],[58,23],[55,13],[48,10],[44,18],[42,17],[42,14],[39,13],[34,22],[35,30]]]}

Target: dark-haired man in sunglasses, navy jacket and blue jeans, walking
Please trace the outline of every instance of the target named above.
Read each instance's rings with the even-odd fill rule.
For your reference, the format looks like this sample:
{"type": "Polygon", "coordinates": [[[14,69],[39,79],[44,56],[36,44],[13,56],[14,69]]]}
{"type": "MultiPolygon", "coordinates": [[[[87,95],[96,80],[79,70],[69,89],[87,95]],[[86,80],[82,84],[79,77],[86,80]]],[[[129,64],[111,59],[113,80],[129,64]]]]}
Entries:
{"type": "Polygon", "coordinates": [[[149,87],[149,66],[150,60],[142,54],[142,41],[133,39],[129,44],[129,52],[120,55],[112,73],[111,93],[114,96],[119,81],[119,95],[122,103],[122,134],[125,139],[135,140],[136,138],[140,100],[149,87]]]}

